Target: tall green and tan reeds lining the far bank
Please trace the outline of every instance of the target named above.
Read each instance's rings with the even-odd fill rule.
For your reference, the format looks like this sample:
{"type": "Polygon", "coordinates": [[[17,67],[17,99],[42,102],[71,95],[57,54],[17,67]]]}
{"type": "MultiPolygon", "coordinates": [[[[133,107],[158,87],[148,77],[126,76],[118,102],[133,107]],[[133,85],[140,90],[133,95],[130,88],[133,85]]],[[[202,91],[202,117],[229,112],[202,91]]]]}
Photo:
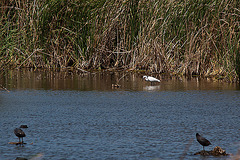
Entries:
{"type": "Polygon", "coordinates": [[[0,66],[240,77],[238,0],[2,0],[0,66]]]}

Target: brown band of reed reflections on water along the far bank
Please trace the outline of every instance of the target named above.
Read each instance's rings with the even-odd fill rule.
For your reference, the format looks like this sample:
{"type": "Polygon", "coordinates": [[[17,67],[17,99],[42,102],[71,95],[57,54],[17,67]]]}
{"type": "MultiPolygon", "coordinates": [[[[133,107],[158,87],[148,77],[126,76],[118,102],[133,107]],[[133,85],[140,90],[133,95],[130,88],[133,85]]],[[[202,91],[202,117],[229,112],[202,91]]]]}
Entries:
{"type": "Polygon", "coordinates": [[[143,80],[143,74],[129,72],[81,73],[49,70],[9,70],[1,73],[0,84],[7,89],[51,89],[81,91],[160,91],[160,90],[235,90],[237,84],[213,81],[211,79],[169,77],[155,75],[161,83],[151,85],[143,80]],[[120,87],[112,87],[119,84],[120,87]]]}

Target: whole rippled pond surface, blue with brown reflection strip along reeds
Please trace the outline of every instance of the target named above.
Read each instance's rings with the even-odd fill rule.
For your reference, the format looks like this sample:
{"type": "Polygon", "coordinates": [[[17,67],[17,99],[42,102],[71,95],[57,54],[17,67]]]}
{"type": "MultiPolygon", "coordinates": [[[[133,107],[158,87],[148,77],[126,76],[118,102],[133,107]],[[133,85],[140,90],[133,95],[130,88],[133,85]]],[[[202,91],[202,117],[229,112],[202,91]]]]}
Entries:
{"type": "Polygon", "coordinates": [[[213,144],[206,150],[237,152],[236,86],[165,78],[151,86],[141,76],[128,75],[112,89],[122,75],[8,73],[1,80],[10,92],[0,92],[0,159],[180,159],[184,153],[189,160],[229,158],[193,155],[202,150],[196,132],[213,144]],[[23,129],[27,144],[8,144],[18,141],[13,130],[21,124],[29,127],[23,129]]]}

